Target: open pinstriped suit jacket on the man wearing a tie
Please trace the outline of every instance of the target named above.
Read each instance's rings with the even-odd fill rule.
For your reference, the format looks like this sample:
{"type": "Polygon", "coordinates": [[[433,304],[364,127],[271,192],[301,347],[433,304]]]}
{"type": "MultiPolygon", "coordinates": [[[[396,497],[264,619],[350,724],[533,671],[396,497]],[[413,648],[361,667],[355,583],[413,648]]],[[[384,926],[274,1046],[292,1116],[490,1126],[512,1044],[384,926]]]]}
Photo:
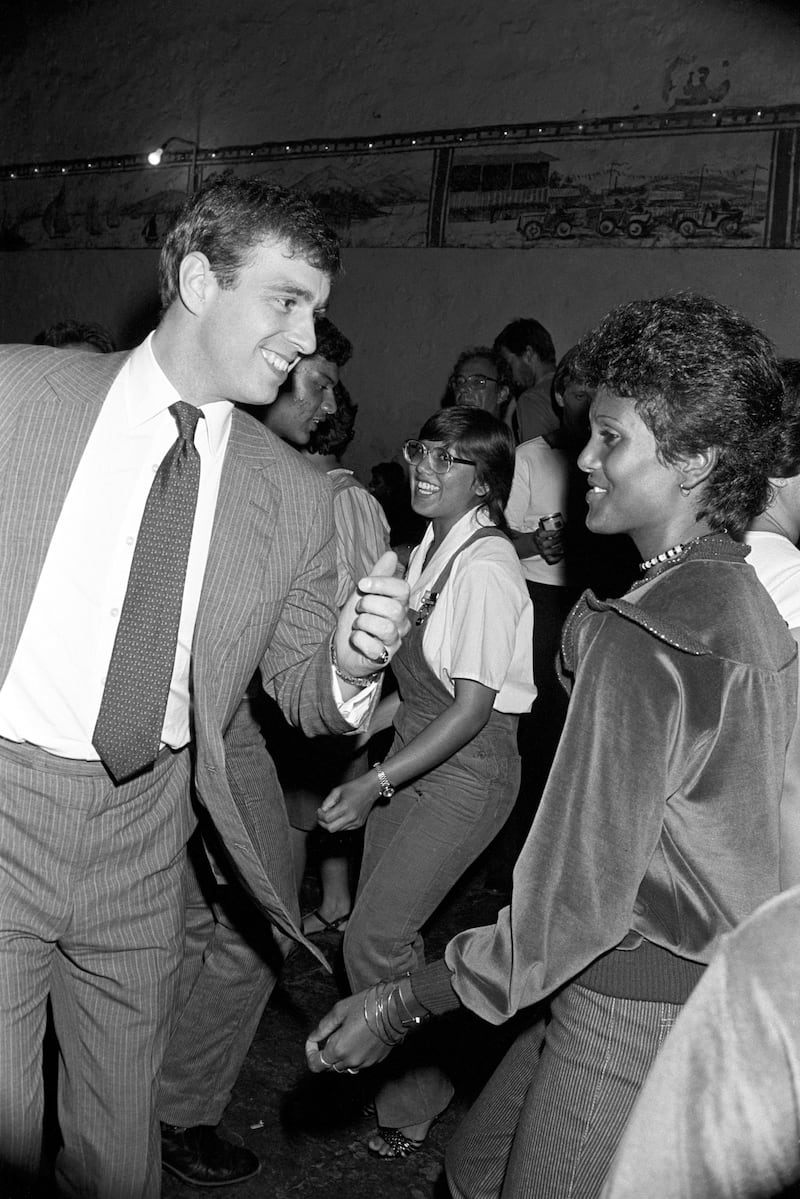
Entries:
{"type": "MultiPolygon", "coordinates": [[[[125,359],[0,349],[0,686],[70,483],[125,359]]],[[[248,891],[295,939],[277,778],[277,806],[248,805],[239,787],[234,797],[223,735],[259,667],[291,723],[309,735],[347,730],[327,661],[335,584],[326,481],[235,409],[192,646],[194,782],[248,891]]]]}

